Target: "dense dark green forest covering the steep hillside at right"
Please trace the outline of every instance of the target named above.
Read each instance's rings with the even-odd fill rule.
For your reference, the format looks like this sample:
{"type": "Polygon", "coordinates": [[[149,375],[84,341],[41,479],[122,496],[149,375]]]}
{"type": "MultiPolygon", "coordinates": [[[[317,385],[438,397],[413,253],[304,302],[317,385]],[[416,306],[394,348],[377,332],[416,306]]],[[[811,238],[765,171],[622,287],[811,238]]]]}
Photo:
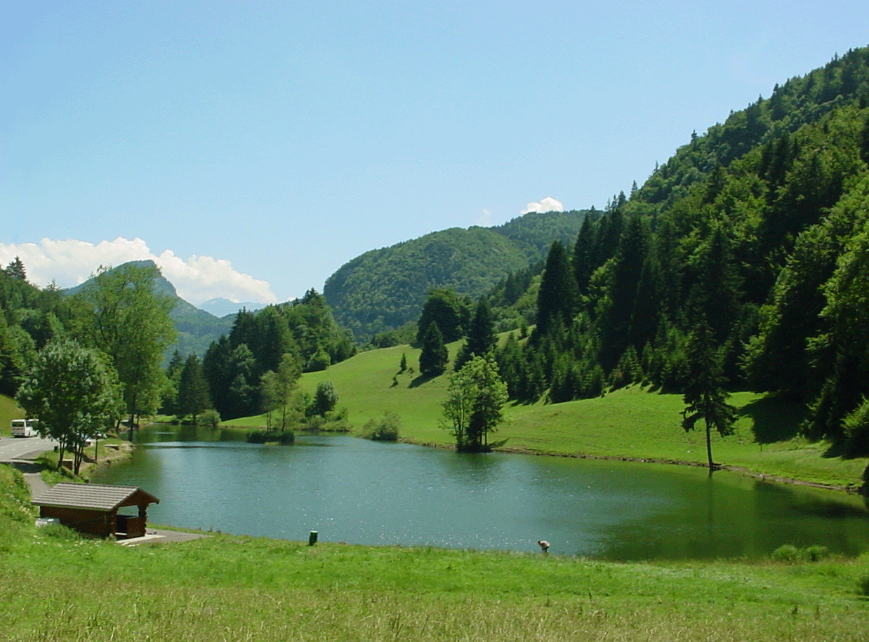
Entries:
{"type": "Polygon", "coordinates": [[[799,401],[806,436],[866,453],[867,162],[866,49],[693,135],[573,242],[552,242],[543,266],[488,293],[493,329],[533,325],[494,351],[511,398],[684,392],[702,334],[725,387],[799,401]]]}

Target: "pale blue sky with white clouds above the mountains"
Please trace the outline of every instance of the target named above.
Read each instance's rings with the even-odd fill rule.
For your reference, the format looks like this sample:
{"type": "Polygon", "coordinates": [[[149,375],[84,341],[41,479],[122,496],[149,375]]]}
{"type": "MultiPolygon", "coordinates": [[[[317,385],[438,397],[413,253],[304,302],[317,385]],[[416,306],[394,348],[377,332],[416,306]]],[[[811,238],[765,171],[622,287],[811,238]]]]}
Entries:
{"type": "Polygon", "coordinates": [[[869,3],[3,2],[0,262],[287,301],[368,249],[602,208],[869,3]]]}

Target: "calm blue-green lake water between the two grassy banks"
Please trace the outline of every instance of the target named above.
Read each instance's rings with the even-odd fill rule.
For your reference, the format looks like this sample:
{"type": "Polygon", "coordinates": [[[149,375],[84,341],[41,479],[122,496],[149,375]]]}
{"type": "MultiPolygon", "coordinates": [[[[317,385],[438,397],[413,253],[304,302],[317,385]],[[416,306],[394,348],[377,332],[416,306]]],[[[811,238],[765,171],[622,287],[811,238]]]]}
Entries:
{"type": "Polygon", "coordinates": [[[160,498],[156,524],[355,544],[599,559],[757,558],[783,544],[857,554],[869,511],[843,493],[703,468],[459,454],[335,435],[262,446],[193,427],[143,431],[96,480],[160,498]]]}

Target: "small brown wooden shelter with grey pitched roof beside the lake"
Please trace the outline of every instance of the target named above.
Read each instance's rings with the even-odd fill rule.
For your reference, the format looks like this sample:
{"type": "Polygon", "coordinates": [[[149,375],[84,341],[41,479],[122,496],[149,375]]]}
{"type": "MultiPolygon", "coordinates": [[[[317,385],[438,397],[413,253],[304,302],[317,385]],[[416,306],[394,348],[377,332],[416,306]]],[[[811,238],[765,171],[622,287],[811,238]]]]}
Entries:
{"type": "Polygon", "coordinates": [[[136,486],[104,484],[57,484],[38,495],[41,518],[60,520],[63,526],[85,535],[118,539],[143,537],[148,520],[148,505],[159,504],[154,495],[136,486]],[[138,507],[136,515],[119,515],[125,507],[138,507]]]}

